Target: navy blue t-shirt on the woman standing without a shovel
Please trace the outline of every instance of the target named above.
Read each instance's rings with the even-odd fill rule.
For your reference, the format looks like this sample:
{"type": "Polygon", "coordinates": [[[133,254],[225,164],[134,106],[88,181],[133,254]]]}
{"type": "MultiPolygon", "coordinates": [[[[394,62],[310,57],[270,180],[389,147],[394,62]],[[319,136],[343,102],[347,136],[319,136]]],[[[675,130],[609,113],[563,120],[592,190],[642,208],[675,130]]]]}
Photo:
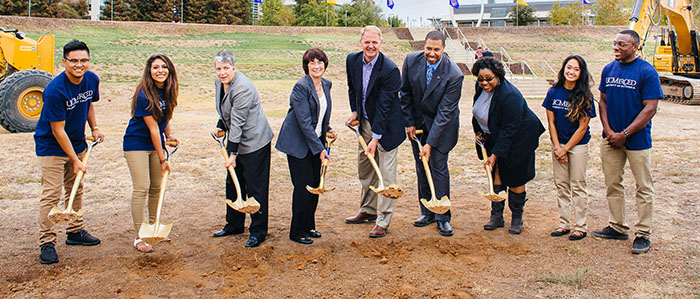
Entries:
{"type": "MultiPolygon", "coordinates": [[[[547,92],[544,103],[542,103],[542,107],[554,113],[554,125],[557,128],[557,136],[559,137],[559,142],[564,144],[571,140],[571,137],[578,129],[578,120],[572,122],[566,117],[566,115],[569,114],[569,107],[571,106],[571,102],[566,100],[570,93],[571,91],[563,86],[552,87],[547,92]]],[[[591,99],[591,109],[587,111],[586,115],[589,117],[596,116],[595,102],[593,102],[593,99],[591,99]]],[[[586,128],[586,134],[583,135],[583,138],[581,138],[581,141],[579,141],[577,145],[588,144],[589,140],[591,140],[590,127],[586,128]]]]}

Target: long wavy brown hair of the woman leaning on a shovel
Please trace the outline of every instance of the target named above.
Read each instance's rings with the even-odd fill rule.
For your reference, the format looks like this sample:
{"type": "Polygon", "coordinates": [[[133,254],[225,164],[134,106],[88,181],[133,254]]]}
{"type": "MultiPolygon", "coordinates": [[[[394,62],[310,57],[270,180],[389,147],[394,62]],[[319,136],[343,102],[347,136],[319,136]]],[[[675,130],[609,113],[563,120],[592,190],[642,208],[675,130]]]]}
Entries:
{"type": "Polygon", "coordinates": [[[163,117],[168,120],[171,119],[175,106],[177,106],[178,90],[177,72],[175,72],[175,66],[173,62],[170,61],[170,58],[163,54],[155,54],[149,57],[146,61],[146,68],[143,70],[143,77],[141,77],[139,85],[136,86],[136,92],[134,92],[134,96],[131,98],[131,117],[134,117],[134,110],[136,109],[139,93],[143,91],[143,94],[146,95],[146,99],[148,99],[148,107],[146,107],[146,109],[151,112],[153,118],[155,118],[157,122],[160,122],[163,117]],[[151,66],[156,59],[164,61],[168,67],[168,78],[165,80],[165,84],[163,84],[163,88],[165,89],[165,97],[163,99],[166,107],[165,115],[163,115],[160,110],[156,83],[153,81],[153,77],[151,77],[151,66]]]}

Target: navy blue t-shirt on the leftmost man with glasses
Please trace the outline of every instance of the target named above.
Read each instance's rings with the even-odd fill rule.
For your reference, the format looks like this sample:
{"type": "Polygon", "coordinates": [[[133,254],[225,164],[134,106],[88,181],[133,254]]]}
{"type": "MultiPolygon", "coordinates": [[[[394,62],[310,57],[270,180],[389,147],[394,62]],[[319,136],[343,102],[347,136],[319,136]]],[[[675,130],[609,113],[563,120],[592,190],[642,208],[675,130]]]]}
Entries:
{"type": "Polygon", "coordinates": [[[71,83],[65,72],[49,82],[42,93],[44,106],[34,132],[37,156],[67,156],[51,131],[51,122],[57,121],[66,122],[64,130],[76,154],[87,148],[85,122],[90,104],[100,99],[99,85],[100,78],[91,71],[85,72],[78,85],[71,83]]]}

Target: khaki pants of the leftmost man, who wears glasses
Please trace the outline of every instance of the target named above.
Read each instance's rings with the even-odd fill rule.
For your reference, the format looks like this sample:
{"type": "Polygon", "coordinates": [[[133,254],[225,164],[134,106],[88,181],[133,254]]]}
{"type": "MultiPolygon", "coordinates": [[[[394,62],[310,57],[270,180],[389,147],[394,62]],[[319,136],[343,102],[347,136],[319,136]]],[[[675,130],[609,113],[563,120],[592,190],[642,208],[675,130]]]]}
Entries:
{"type": "MultiPolygon", "coordinates": [[[[82,159],[85,152],[78,154],[82,159]]],[[[61,192],[65,189],[64,200],[68,203],[70,193],[75,182],[76,174],[73,172],[73,162],[70,158],[62,156],[39,156],[41,167],[41,200],[39,201],[39,245],[44,243],[56,244],[56,232],[54,223],[49,220],[49,212],[61,201],[61,192]]],[[[78,187],[78,192],[73,200],[73,210],[78,211],[83,206],[83,184],[78,187]]],[[[65,206],[61,206],[64,208],[65,206]]],[[[74,222],[68,223],[66,232],[76,232],[83,229],[83,217],[78,217],[74,222]]]]}

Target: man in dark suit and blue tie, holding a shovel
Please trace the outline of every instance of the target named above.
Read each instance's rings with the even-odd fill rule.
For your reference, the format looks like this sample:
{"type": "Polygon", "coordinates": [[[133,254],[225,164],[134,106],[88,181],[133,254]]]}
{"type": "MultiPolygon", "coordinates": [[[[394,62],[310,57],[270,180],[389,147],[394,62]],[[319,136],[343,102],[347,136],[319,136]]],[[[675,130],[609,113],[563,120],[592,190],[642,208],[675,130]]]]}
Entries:
{"type": "MultiPolygon", "coordinates": [[[[449,152],[457,144],[459,131],[459,100],[462,96],[462,74],[457,64],[443,55],[445,36],[431,31],[425,37],[424,51],[406,56],[401,77],[401,108],[406,121],[406,134],[412,140],[420,138],[423,150],[412,143],[416,160],[419,198],[431,198],[425,169],[420,157],[428,159],[435,183],[435,196],[450,196],[450,173],[447,168],[449,152]],[[416,129],[423,134],[416,136],[416,129]]],[[[423,227],[438,223],[443,236],[454,233],[450,211],[436,214],[420,203],[421,216],[413,223],[423,227]]]]}

